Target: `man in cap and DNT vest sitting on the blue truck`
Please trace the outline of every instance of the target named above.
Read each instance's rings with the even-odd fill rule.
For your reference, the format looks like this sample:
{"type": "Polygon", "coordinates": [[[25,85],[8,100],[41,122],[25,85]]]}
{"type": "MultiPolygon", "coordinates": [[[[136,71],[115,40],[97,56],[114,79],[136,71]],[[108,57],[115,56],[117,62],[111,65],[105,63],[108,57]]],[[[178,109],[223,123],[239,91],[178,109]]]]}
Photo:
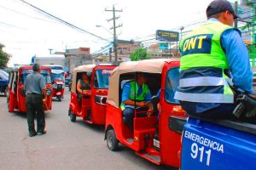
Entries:
{"type": "Polygon", "coordinates": [[[253,93],[253,72],[238,18],[226,0],[207,7],[207,22],[180,43],[181,74],[175,99],[195,116],[232,117],[236,104],[229,84],[253,93]]]}

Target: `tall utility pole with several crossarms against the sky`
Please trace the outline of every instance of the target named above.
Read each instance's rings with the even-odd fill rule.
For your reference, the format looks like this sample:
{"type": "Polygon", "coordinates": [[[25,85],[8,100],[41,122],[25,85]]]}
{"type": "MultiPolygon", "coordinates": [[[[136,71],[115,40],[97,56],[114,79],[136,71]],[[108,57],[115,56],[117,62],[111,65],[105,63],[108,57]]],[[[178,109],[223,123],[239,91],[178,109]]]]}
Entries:
{"type": "MultiPolygon", "coordinates": [[[[113,27],[110,28],[110,30],[113,29],[113,53],[114,53],[114,62],[117,63],[118,59],[117,59],[117,48],[116,48],[116,41],[117,41],[117,38],[116,38],[116,28],[118,27],[121,27],[123,25],[119,25],[119,26],[116,26],[115,25],[115,20],[119,19],[119,17],[115,17],[115,12],[123,12],[123,10],[116,10],[114,8],[114,5],[113,5],[113,9],[112,10],[108,10],[108,9],[105,9],[105,11],[108,11],[108,12],[113,12],[113,18],[110,19],[110,20],[113,20],[113,27]]],[[[108,21],[110,21],[108,20],[108,21]]],[[[111,59],[111,55],[109,55],[109,61],[112,62],[112,59],[111,59]]]]}

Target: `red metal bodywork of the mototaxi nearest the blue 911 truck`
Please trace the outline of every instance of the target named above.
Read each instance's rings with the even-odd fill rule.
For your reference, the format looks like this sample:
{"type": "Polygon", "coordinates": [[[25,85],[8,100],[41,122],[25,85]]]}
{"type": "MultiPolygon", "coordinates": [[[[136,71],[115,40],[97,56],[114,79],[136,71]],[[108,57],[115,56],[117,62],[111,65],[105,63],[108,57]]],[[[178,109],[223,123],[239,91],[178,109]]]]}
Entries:
{"type": "MultiPolygon", "coordinates": [[[[181,134],[173,132],[169,128],[169,117],[184,117],[184,111],[180,105],[167,103],[164,97],[166,86],[166,74],[171,68],[178,67],[179,62],[166,63],[161,75],[161,94],[160,94],[160,117],[159,122],[157,116],[135,117],[134,118],[134,135],[131,130],[123,122],[123,115],[120,108],[107,103],[106,109],[106,132],[113,128],[116,138],[121,144],[125,144],[132,150],[135,150],[138,156],[142,156],[148,161],[160,165],[165,164],[172,167],[179,167],[179,150],[181,147],[181,134]],[[160,151],[154,150],[153,138],[156,132],[155,124],[159,123],[160,151]],[[148,140],[146,140],[146,137],[148,140]],[[127,139],[134,139],[133,143],[129,143],[127,139]],[[149,156],[155,156],[160,161],[155,161],[149,156]]],[[[137,113],[138,114],[138,113],[137,113]]]]}

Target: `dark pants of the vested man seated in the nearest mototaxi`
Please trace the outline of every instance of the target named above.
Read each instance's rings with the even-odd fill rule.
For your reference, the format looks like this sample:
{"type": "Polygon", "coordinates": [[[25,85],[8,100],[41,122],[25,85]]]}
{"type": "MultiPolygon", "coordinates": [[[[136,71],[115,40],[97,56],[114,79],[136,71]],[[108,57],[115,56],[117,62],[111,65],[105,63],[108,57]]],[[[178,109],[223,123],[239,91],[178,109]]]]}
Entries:
{"type": "MultiPolygon", "coordinates": [[[[137,109],[137,111],[148,111],[148,107],[137,109]]],[[[123,116],[125,117],[125,124],[127,124],[131,130],[133,130],[133,118],[134,118],[134,109],[126,107],[123,111],[123,116]]],[[[137,117],[146,116],[146,113],[139,113],[137,117]]]]}

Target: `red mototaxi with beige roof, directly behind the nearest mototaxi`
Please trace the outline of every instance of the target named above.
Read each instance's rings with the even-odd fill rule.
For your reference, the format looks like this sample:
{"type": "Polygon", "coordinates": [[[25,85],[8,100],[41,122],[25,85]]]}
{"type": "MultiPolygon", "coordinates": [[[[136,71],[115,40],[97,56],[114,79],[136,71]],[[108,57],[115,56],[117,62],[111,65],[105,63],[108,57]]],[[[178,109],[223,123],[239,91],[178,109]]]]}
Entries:
{"type": "Polygon", "coordinates": [[[72,122],[79,116],[90,124],[105,124],[108,77],[115,65],[80,65],[73,70],[71,99],[68,116],[72,122]],[[83,94],[82,105],[78,102],[77,82],[86,72],[90,78],[90,90],[83,94]]]}

